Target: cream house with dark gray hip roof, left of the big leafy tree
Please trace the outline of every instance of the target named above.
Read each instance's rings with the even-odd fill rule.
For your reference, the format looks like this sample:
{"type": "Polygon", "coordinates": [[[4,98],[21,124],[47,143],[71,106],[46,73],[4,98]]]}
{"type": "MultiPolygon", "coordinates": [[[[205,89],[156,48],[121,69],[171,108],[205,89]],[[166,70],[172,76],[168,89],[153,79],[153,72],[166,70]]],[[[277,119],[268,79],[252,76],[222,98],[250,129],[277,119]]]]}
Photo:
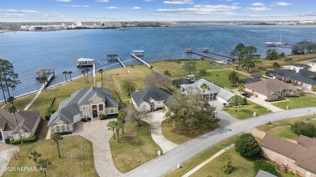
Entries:
{"type": "Polygon", "coordinates": [[[164,103],[171,96],[170,91],[158,87],[149,87],[132,92],[133,106],[138,110],[157,110],[165,107],[164,103]]]}

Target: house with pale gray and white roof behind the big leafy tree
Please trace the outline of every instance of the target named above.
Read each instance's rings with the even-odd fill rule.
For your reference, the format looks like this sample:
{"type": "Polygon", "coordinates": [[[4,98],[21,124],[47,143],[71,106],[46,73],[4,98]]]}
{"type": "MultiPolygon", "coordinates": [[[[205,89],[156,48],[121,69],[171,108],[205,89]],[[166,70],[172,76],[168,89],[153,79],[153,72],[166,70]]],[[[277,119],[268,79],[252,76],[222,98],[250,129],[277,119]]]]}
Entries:
{"type": "Polygon", "coordinates": [[[205,79],[199,79],[197,82],[193,83],[193,84],[188,84],[188,85],[180,85],[180,89],[181,92],[188,94],[188,92],[186,91],[186,89],[189,88],[197,88],[201,94],[203,94],[203,96],[205,97],[206,100],[219,100],[222,103],[226,103],[227,105],[230,104],[230,99],[235,96],[234,93],[223,89],[209,81],[206,81],[205,79]],[[206,84],[207,89],[203,90],[201,89],[201,85],[202,84],[206,84]]]}

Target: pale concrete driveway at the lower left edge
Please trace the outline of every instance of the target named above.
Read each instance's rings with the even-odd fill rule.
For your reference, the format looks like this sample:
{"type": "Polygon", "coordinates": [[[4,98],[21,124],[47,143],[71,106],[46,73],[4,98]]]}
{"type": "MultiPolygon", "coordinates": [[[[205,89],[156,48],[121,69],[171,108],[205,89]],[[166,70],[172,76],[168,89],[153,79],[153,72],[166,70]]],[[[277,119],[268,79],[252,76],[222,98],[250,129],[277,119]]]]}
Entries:
{"type": "MultiPolygon", "coordinates": [[[[5,143],[0,143],[0,167],[7,167],[13,153],[20,150],[19,147],[15,145],[7,145],[5,143]]],[[[0,176],[3,174],[3,170],[0,170],[0,176]]]]}

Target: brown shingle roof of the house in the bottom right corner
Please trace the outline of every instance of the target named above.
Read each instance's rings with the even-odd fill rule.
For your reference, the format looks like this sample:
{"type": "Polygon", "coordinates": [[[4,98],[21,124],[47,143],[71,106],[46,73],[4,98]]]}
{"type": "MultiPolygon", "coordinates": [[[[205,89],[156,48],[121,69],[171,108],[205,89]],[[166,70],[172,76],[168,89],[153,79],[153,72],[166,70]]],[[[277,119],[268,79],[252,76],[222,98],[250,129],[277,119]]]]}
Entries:
{"type": "Polygon", "coordinates": [[[295,160],[296,165],[316,174],[316,138],[300,135],[295,144],[267,133],[260,145],[295,160]]]}

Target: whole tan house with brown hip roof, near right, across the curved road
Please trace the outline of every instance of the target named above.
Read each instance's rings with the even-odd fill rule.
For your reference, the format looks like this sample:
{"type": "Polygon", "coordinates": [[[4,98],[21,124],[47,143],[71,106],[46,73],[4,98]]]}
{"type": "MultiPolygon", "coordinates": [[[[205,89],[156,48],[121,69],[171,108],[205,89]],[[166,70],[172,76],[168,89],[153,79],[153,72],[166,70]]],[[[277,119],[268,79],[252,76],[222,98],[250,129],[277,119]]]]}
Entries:
{"type": "Polygon", "coordinates": [[[286,95],[300,95],[301,90],[277,79],[265,79],[245,85],[245,91],[257,95],[259,98],[271,100],[286,95]]]}

